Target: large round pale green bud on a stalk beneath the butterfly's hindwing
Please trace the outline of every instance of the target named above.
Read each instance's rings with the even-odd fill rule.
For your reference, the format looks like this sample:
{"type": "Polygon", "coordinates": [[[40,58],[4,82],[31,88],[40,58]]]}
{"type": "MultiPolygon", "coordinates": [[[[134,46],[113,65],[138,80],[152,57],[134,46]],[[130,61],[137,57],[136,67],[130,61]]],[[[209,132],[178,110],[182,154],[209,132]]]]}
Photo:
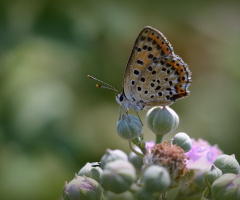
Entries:
{"type": "Polygon", "coordinates": [[[146,123],[156,135],[163,136],[177,128],[179,117],[177,113],[168,106],[157,106],[147,112],[146,123]]]}

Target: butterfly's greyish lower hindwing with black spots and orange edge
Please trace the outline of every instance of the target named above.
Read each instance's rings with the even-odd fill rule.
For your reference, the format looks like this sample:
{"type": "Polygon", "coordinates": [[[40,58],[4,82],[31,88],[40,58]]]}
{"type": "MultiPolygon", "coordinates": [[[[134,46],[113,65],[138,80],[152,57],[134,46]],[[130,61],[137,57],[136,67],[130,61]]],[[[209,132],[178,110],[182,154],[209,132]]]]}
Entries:
{"type": "Polygon", "coordinates": [[[189,94],[191,72],[177,55],[167,55],[151,62],[132,88],[136,101],[145,106],[170,105],[189,94]]]}

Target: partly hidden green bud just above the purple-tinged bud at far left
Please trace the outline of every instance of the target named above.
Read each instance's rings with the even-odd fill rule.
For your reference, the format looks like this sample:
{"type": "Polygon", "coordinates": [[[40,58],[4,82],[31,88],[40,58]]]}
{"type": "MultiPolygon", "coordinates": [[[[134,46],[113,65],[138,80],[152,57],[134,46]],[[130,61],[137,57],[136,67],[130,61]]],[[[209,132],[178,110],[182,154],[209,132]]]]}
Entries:
{"type": "Polygon", "coordinates": [[[87,176],[93,178],[100,183],[100,176],[102,174],[102,169],[100,167],[92,167],[91,163],[87,163],[84,167],[78,172],[78,176],[87,176]]]}

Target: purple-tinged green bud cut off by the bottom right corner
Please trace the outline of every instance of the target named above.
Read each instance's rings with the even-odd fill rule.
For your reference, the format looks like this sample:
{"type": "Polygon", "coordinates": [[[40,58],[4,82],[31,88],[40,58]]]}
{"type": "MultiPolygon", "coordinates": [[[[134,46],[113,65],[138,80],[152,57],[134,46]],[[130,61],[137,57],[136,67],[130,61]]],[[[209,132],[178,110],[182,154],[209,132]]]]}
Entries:
{"type": "Polygon", "coordinates": [[[224,174],[212,184],[213,200],[238,200],[240,199],[240,176],[224,174]]]}

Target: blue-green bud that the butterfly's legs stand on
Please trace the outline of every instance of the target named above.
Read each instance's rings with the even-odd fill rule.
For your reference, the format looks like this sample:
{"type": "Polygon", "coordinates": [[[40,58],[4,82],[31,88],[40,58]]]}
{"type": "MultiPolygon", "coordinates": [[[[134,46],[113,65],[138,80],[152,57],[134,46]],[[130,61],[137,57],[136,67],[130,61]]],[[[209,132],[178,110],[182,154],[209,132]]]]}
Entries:
{"type": "Polygon", "coordinates": [[[134,115],[122,115],[121,119],[117,122],[117,132],[121,138],[133,140],[142,134],[142,123],[134,115]]]}

